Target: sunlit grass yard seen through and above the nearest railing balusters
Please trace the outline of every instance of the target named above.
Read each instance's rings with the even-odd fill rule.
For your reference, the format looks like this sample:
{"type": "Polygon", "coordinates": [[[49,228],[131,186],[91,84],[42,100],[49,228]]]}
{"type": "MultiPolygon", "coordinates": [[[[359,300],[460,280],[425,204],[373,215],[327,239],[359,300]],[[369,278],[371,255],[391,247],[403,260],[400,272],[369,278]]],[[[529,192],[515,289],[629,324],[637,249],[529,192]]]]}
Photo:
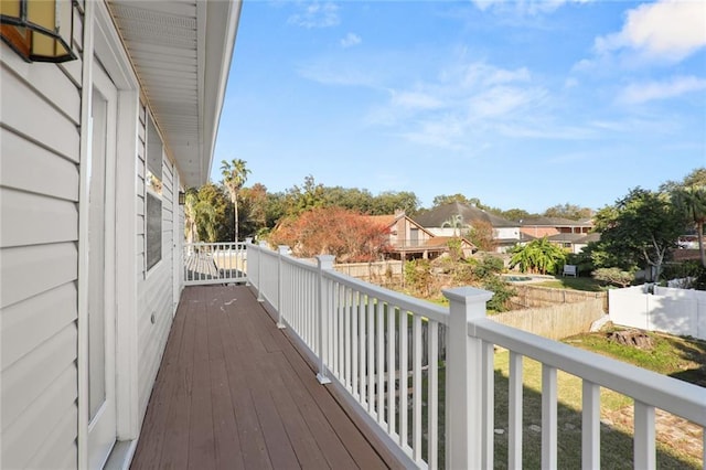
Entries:
{"type": "MultiPolygon", "coordinates": [[[[589,351],[599,352],[618,360],[632,363],[665,375],[672,375],[691,383],[705,384],[706,342],[685,340],[654,333],[655,348],[651,352],[616,345],[605,339],[606,333],[590,333],[567,339],[566,342],[589,351]]],[[[495,353],[495,434],[494,467],[507,468],[509,438],[509,357],[506,350],[495,353]]],[[[443,426],[443,396],[446,371],[439,371],[439,418],[443,426]]],[[[523,467],[539,468],[542,464],[542,434],[531,426],[542,425],[542,364],[525,357],[523,360],[523,467]]],[[[426,378],[424,387],[426,388],[426,378]]],[[[557,428],[558,468],[579,469],[581,466],[581,380],[563,371],[557,373],[557,428]]],[[[424,400],[426,402],[426,393],[424,400]]],[[[601,388],[601,467],[610,469],[632,469],[633,441],[632,421],[625,419],[631,413],[633,400],[609,388],[601,388]]],[[[426,407],[422,416],[426,425],[426,407]]],[[[534,428],[536,429],[536,428],[534,428]]],[[[440,430],[440,436],[443,431],[440,430]]],[[[426,442],[424,442],[426,457],[426,442]]],[[[661,469],[700,469],[698,449],[685,448],[684,442],[666,442],[657,434],[657,467],[661,469]]],[[[439,464],[443,466],[443,442],[439,464]]]]}

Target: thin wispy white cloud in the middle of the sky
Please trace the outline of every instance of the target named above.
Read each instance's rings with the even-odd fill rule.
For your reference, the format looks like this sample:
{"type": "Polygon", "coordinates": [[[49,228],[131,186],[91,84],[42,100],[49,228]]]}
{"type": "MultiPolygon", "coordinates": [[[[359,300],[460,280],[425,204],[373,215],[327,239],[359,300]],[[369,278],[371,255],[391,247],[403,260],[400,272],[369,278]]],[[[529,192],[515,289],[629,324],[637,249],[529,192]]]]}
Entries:
{"type": "Polygon", "coordinates": [[[505,133],[506,122],[531,128],[547,92],[528,70],[484,62],[454,64],[436,81],[389,92],[389,100],[368,115],[368,124],[399,129],[405,139],[445,149],[475,148],[485,132],[505,133]]]}

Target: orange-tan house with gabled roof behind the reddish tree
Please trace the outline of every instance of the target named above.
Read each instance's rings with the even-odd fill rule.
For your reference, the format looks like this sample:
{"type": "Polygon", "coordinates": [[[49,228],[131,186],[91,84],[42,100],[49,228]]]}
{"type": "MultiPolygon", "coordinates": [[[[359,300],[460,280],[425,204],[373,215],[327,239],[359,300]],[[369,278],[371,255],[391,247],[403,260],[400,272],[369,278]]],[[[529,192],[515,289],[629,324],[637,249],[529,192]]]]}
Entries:
{"type": "MultiPolygon", "coordinates": [[[[435,235],[413,221],[404,211],[397,211],[394,215],[367,215],[366,218],[388,228],[388,255],[395,259],[432,259],[449,250],[448,243],[451,236],[435,235]]],[[[464,255],[472,254],[474,248],[472,243],[461,239],[464,255]]]]}

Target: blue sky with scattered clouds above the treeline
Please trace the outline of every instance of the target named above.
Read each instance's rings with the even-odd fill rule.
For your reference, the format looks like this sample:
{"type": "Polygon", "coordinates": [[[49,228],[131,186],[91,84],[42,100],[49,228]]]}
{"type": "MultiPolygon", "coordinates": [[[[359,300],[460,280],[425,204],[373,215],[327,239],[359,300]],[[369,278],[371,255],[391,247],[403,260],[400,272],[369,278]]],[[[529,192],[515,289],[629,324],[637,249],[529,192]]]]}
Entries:
{"type": "Polygon", "coordinates": [[[245,0],[212,179],[600,209],[706,167],[706,1],[245,0]]]}

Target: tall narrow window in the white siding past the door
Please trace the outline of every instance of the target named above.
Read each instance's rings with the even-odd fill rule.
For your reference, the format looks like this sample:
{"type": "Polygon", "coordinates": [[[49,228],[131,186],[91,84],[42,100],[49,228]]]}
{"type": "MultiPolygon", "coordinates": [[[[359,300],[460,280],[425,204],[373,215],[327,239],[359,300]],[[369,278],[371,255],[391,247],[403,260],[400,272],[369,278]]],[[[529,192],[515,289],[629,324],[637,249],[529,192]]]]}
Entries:
{"type": "Polygon", "coordinates": [[[146,167],[145,248],[149,271],[162,259],[162,141],[151,118],[147,121],[146,167]]]}

